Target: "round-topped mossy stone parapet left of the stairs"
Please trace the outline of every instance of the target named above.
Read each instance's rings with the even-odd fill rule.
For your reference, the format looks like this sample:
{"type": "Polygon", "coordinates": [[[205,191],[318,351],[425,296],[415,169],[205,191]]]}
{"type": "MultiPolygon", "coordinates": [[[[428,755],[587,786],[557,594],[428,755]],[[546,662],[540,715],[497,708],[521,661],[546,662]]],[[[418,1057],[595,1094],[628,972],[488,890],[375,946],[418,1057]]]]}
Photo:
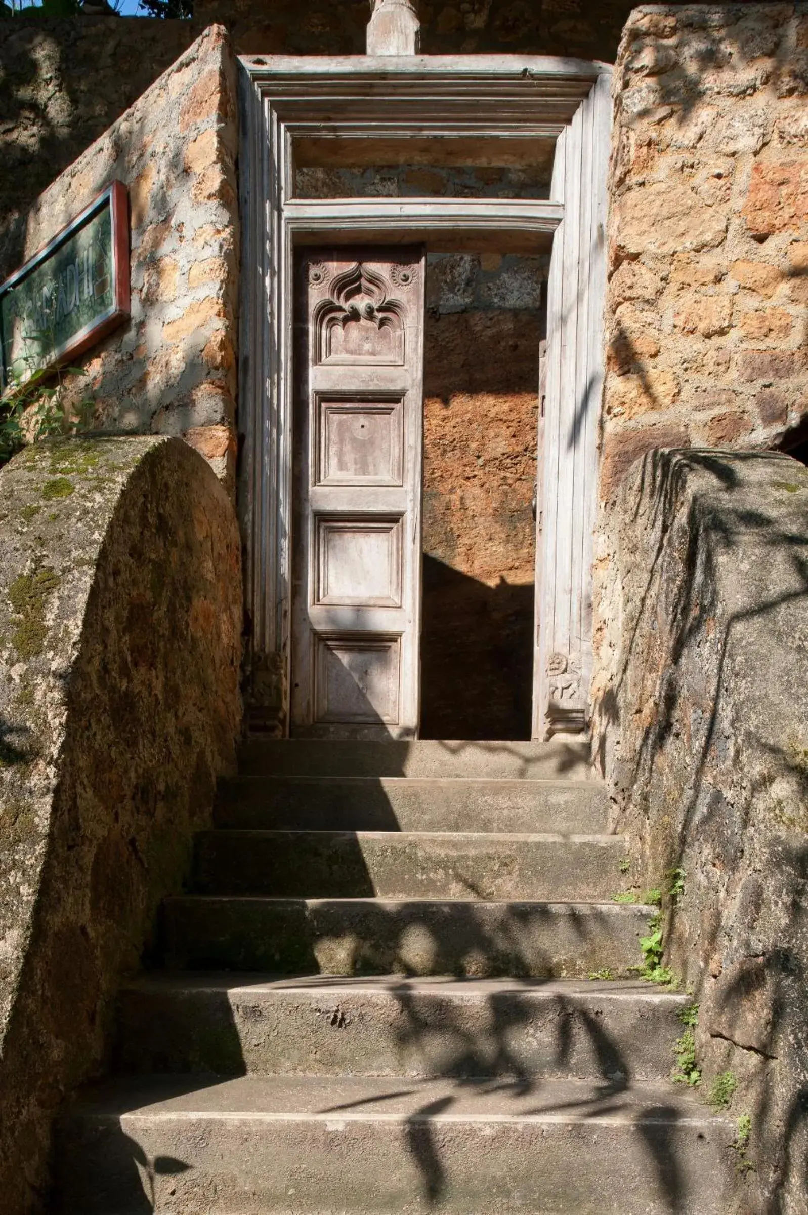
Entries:
{"type": "Polygon", "coordinates": [[[102,1062],[239,729],[239,542],[173,439],[38,443],[0,471],[0,1192],[102,1062]]]}

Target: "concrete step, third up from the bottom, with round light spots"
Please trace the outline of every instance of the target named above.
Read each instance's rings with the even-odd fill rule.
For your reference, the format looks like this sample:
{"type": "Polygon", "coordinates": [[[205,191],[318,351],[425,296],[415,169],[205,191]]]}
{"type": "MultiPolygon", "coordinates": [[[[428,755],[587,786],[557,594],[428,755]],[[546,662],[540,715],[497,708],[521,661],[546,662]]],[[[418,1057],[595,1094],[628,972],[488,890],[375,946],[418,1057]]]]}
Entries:
{"type": "Polygon", "coordinates": [[[463,899],[182,895],[163,904],[169,970],[628,977],[655,908],[463,899]]]}

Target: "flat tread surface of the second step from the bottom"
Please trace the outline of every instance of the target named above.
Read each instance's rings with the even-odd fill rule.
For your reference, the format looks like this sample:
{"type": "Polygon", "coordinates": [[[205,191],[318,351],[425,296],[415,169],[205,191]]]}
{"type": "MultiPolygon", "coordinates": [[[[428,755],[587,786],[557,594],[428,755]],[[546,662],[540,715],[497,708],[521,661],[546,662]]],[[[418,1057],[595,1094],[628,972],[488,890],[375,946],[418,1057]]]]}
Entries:
{"type": "Polygon", "coordinates": [[[412,977],[408,974],[261,974],[252,971],[160,971],[141,974],[126,984],[124,991],[211,991],[231,995],[272,995],[295,993],[301,995],[437,995],[442,1000],[463,1000],[469,996],[515,994],[524,998],[597,996],[599,1000],[637,1000],[654,1004],[689,1002],[680,991],[667,991],[642,979],[541,979],[541,978],[457,978],[437,974],[412,977]]]}

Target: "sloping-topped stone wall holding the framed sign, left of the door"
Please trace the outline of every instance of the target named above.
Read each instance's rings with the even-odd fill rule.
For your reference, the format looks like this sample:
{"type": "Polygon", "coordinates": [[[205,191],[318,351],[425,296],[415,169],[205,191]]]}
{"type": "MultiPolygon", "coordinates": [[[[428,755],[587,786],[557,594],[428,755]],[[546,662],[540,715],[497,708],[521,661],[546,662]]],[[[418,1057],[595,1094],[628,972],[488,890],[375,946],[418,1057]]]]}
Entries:
{"type": "Polygon", "coordinates": [[[207,30],[6,233],[5,269],[113,179],[129,188],[131,321],[80,361],[92,426],[182,435],[233,485],[238,207],[235,62],[207,30]]]}

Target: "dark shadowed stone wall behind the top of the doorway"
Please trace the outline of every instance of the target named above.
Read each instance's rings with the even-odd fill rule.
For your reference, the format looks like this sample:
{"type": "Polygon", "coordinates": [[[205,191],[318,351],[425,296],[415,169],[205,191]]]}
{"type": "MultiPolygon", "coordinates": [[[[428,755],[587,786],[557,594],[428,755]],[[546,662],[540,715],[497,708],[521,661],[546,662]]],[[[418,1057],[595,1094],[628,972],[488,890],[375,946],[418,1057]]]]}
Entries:
{"type": "MultiPolygon", "coordinates": [[[[631,0],[430,0],[425,53],[577,55],[611,62],[631,0]]],[[[239,53],[361,55],[369,0],[197,0],[193,21],[0,19],[0,227],[33,203],[207,26],[239,53]]],[[[7,261],[0,250],[0,261],[7,261]]]]}

